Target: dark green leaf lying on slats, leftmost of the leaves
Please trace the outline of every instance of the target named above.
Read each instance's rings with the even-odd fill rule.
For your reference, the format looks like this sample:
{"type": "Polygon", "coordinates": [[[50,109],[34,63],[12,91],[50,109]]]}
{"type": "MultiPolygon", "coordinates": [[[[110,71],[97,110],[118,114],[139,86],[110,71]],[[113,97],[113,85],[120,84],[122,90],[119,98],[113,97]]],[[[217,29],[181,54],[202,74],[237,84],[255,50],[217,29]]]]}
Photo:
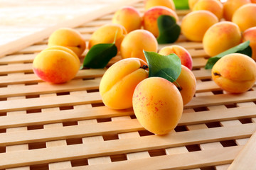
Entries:
{"type": "MultiPolygon", "coordinates": [[[[117,55],[117,47],[114,43],[93,45],[85,56],[82,68],[101,69],[106,67],[112,57],[117,55]]],[[[81,69],[82,69],[81,68],[81,69]]]]}

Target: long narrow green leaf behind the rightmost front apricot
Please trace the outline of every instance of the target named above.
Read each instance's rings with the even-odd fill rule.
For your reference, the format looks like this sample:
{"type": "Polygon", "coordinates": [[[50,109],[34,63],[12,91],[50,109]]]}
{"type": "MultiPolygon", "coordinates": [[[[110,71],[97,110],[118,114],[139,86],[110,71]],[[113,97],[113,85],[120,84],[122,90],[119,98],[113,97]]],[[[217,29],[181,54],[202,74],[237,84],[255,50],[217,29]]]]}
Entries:
{"type": "Polygon", "coordinates": [[[205,69],[212,69],[213,65],[220,60],[221,57],[225,55],[229,55],[231,53],[241,53],[244,55],[247,55],[249,57],[252,57],[252,48],[249,46],[250,41],[242,42],[241,44],[230,48],[229,50],[226,50],[225,52],[221,52],[218,55],[215,55],[214,57],[210,57],[206,63],[205,69]]]}

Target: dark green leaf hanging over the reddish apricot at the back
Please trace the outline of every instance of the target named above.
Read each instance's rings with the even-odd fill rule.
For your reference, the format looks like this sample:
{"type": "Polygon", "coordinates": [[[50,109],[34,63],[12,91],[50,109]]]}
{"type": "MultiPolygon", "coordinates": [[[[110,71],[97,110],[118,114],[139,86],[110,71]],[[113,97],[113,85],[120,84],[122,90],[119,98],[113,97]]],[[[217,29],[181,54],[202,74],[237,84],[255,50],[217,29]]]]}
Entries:
{"type": "Polygon", "coordinates": [[[159,42],[159,44],[172,43],[178,40],[181,28],[178,26],[173,16],[159,16],[159,18],[157,18],[157,25],[159,28],[157,42],[159,42]]]}

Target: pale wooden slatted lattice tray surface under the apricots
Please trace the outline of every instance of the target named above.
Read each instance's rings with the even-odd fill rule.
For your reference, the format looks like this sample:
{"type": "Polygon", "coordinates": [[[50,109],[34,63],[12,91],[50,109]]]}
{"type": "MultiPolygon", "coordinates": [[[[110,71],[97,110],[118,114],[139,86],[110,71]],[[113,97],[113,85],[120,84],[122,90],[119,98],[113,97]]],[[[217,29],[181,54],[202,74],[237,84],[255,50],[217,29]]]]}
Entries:
{"type": "MultiPolygon", "coordinates": [[[[142,1],[134,6],[144,11],[142,1]]],[[[188,11],[177,13],[182,18],[188,11]]],[[[76,29],[88,40],[112,15],[76,29]]],[[[58,85],[36,77],[31,63],[47,40],[2,57],[0,169],[228,169],[256,130],[256,87],[226,94],[203,68],[208,56],[200,42],[181,35],[175,44],[191,52],[197,91],[164,136],[144,130],[132,109],[104,106],[98,88],[105,69],[80,70],[58,85]]]]}

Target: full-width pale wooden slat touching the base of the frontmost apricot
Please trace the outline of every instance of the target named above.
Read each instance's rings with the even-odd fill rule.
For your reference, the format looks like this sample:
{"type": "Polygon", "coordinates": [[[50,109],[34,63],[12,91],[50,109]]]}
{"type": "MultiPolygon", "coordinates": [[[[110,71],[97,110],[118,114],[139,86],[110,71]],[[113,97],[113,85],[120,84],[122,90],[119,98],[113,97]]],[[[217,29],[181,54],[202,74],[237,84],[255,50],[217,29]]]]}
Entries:
{"type": "Polygon", "coordinates": [[[76,159],[78,157],[97,157],[127,152],[138,152],[148,149],[164,147],[178,147],[205,142],[233,140],[250,137],[256,130],[256,123],[238,125],[233,127],[210,128],[207,130],[192,130],[186,132],[169,133],[168,135],[151,135],[125,140],[109,140],[104,142],[88,142],[87,145],[69,145],[67,147],[54,147],[35,149],[22,152],[0,154],[0,168],[23,166],[27,164],[41,164],[76,159]],[[38,157],[40,155],[40,157],[38,157]]]}

